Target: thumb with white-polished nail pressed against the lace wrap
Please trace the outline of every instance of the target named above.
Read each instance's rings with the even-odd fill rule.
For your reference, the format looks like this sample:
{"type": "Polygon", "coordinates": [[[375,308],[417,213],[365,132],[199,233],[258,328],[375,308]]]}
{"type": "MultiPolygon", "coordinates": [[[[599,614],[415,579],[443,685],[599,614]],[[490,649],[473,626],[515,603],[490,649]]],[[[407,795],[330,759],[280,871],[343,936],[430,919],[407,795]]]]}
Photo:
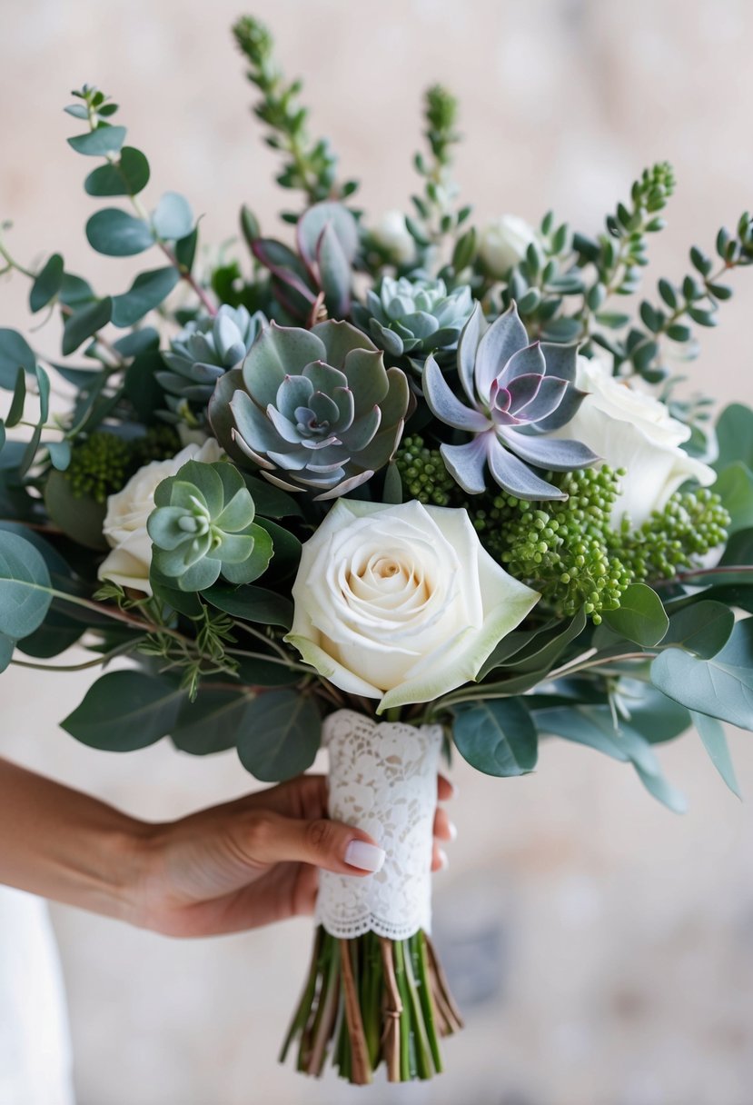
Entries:
{"type": "Polygon", "coordinates": [[[305,821],[265,810],[248,836],[246,851],[261,864],[311,863],[340,875],[369,875],[381,870],[385,857],[369,833],[325,818],[305,821]]]}

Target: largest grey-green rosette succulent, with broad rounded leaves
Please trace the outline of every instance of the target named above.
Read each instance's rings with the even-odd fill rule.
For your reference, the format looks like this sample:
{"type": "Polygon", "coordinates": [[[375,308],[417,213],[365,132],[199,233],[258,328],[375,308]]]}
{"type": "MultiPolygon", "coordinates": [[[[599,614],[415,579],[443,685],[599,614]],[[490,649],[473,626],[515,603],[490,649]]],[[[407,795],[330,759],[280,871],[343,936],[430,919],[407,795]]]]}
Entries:
{"type": "Polygon", "coordinates": [[[391,459],[409,409],[407,379],[349,323],[311,330],[273,323],[243,367],[218,381],[218,440],[286,491],[344,495],[391,459]]]}

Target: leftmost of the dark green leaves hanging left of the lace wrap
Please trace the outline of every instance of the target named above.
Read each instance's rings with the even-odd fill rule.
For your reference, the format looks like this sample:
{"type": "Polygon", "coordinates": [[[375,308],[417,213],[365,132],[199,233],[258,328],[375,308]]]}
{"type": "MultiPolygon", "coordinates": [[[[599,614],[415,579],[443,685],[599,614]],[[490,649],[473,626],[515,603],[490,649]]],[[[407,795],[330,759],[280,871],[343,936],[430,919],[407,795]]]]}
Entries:
{"type": "Polygon", "coordinates": [[[170,733],[185,698],[185,691],[171,680],[144,672],[108,672],[61,725],[89,748],[129,753],[170,733]]]}

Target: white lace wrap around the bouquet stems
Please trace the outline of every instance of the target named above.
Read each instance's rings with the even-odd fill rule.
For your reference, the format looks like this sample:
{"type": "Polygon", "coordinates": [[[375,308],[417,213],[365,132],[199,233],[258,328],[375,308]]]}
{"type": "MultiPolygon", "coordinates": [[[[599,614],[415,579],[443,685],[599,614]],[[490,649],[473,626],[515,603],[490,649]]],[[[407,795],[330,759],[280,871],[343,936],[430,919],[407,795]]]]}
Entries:
{"type": "Polygon", "coordinates": [[[317,920],[341,939],[371,930],[404,940],[428,932],[442,727],[376,723],[340,709],[326,719],[324,741],[330,817],[370,833],[386,859],[360,878],[320,872],[317,920]]]}

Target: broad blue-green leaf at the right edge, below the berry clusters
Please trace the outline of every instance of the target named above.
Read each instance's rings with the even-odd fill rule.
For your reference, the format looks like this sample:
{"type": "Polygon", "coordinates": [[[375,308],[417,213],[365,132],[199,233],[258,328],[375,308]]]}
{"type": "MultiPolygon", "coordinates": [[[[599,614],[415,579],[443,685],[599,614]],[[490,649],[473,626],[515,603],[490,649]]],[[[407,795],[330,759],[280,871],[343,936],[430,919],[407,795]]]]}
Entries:
{"type": "Polygon", "coordinates": [[[651,664],[651,682],[688,709],[753,729],[753,618],[739,621],[711,660],[667,649],[651,664]]]}

